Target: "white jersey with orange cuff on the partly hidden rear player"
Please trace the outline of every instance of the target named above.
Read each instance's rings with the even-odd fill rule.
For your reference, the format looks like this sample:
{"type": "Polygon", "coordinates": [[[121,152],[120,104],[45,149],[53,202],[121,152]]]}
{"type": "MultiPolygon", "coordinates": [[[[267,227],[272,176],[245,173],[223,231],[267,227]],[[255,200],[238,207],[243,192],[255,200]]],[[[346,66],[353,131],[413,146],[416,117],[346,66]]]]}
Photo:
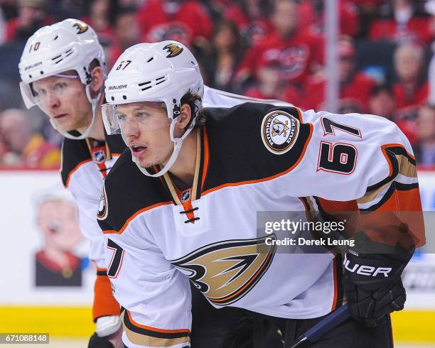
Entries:
{"type": "MultiPolygon", "coordinates": [[[[249,100],[237,94],[222,92],[217,89],[204,88],[205,106],[232,107],[249,100]]],[[[259,102],[259,99],[250,99],[259,102]]],[[[289,105],[279,101],[269,101],[279,105],[289,105]]],[[[80,229],[90,241],[89,257],[97,266],[95,282],[95,300],[93,317],[114,315],[119,312],[119,305],[114,301],[107,279],[104,261],[104,249],[107,240],[95,219],[103,180],[114,165],[125,143],[119,135],[107,136],[107,141],[71,140],[65,138],[62,146],[61,176],[63,185],[73,193],[79,210],[80,229]]]]}

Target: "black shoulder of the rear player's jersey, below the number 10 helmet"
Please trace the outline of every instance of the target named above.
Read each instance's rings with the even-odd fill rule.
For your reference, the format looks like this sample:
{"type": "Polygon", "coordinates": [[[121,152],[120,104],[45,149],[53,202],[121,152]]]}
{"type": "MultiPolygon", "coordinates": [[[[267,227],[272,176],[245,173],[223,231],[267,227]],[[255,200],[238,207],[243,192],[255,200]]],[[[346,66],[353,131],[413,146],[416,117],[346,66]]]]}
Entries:
{"type": "Polygon", "coordinates": [[[62,163],[60,168],[63,185],[67,185],[70,173],[83,161],[92,161],[85,139],[73,140],[65,138],[62,143],[62,163]]]}

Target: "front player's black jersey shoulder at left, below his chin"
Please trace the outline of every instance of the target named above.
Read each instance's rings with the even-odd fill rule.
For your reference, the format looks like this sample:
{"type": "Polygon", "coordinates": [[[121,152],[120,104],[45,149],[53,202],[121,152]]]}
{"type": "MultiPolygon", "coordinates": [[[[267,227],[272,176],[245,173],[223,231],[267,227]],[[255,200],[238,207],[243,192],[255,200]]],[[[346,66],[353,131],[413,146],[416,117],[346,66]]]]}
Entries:
{"type": "Polygon", "coordinates": [[[105,207],[101,214],[104,218],[98,219],[102,231],[119,232],[137,212],[171,201],[161,180],[141,173],[131,160],[131,151],[126,148],[104,179],[102,200],[105,207]]]}

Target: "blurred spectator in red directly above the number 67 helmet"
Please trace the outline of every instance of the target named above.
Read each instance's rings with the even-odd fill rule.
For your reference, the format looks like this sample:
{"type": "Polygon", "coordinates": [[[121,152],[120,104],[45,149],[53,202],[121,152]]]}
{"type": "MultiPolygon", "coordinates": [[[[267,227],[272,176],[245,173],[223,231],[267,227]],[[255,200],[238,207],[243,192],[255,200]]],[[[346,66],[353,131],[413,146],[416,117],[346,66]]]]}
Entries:
{"type": "Polygon", "coordinates": [[[149,0],[137,19],[142,40],[177,40],[204,47],[213,30],[210,16],[197,0],[149,0]]]}

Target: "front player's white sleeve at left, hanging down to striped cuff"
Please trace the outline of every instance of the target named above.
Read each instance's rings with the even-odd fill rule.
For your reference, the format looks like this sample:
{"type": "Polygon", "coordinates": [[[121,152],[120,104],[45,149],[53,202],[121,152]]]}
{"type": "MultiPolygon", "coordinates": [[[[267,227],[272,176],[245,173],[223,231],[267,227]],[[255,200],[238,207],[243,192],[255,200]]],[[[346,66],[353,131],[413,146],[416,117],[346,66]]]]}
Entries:
{"type": "MultiPolygon", "coordinates": [[[[106,187],[103,192],[104,204],[116,214],[110,190],[106,187]]],[[[192,318],[188,278],[165,259],[140,214],[138,218],[129,219],[122,233],[114,231],[111,214],[108,217],[100,214],[99,223],[108,232],[107,275],[114,297],[125,308],[122,313],[124,344],[131,348],[190,347],[192,318]]]]}

